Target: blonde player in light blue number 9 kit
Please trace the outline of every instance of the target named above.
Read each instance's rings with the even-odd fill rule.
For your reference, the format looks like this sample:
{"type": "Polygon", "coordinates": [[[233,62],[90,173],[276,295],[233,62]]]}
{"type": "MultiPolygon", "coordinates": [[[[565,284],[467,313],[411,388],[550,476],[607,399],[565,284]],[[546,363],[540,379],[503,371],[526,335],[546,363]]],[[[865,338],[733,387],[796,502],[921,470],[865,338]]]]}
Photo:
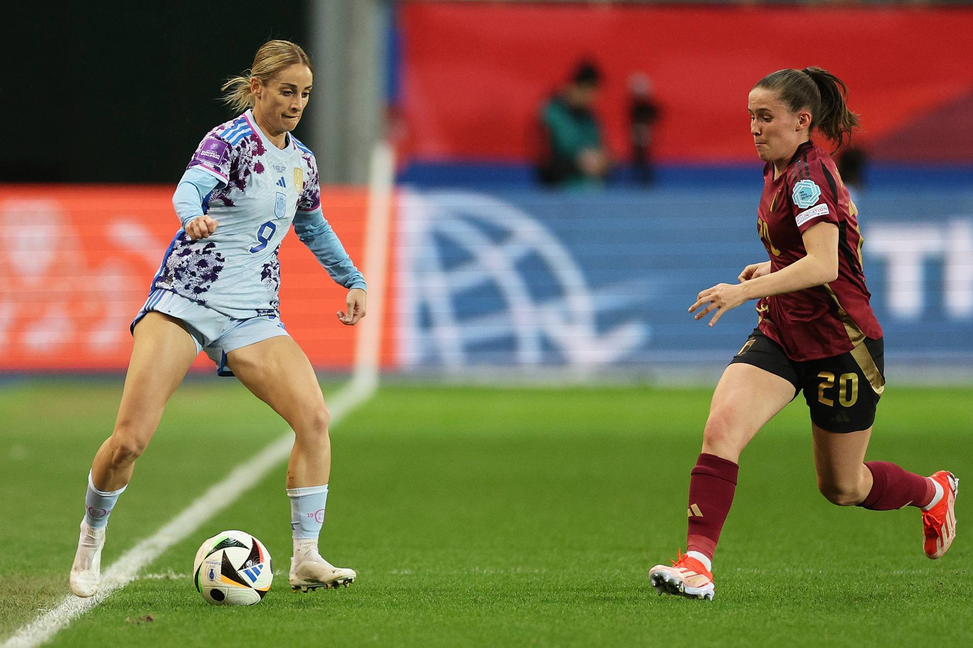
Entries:
{"type": "Polygon", "coordinates": [[[301,241],[348,289],[338,319],[353,325],[365,317],[365,280],[324,219],[313,153],[291,135],[312,77],[299,46],[265,44],[253,68],[223,87],[227,103],[245,112],[203,138],[179,181],[172,202],[183,226],[131,324],[134,347],[118,420],[91,465],[70,576],[79,597],[97,592],[108,516],[199,351],[294,429],[287,466],[291,586],[306,592],[355,579],[353,570],[335,567],[318,552],[331,470],[328,409],[310,362],[278,312],[277,253],[293,222],[301,241]]]}

